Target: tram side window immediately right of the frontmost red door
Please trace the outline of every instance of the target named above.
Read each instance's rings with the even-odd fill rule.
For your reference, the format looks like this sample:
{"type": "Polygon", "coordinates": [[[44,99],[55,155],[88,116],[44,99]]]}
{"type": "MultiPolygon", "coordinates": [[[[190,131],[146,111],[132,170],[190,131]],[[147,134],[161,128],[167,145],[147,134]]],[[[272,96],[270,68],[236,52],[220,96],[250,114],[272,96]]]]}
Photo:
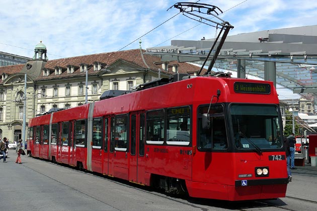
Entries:
{"type": "Polygon", "coordinates": [[[163,144],[164,136],[164,110],[149,111],[146,113],[146,143],[163,144]]]}

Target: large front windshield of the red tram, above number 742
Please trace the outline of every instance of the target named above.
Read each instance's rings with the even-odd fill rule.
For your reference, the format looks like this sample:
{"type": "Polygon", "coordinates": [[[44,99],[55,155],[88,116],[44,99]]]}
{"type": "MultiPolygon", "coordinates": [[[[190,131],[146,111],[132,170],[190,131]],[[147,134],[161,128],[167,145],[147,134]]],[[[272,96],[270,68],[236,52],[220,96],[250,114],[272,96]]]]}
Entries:
{"type": "Polygon", "coordinates": [[[278,111],[276,105],[232,104],[230,114],[235,147],[258,152],[281,148],[278,111]]]}

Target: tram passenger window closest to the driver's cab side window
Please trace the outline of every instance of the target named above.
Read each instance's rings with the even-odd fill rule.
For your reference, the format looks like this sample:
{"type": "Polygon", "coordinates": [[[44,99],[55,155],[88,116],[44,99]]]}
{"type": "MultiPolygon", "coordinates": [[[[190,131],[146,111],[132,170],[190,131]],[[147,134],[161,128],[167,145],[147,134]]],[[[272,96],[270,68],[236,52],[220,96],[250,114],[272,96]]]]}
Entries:
{"type": "Polygon", "coordinates": [[[167,110],[167,144],[189,145],[191,129],[190,107],[177,107],[167,110]]]}

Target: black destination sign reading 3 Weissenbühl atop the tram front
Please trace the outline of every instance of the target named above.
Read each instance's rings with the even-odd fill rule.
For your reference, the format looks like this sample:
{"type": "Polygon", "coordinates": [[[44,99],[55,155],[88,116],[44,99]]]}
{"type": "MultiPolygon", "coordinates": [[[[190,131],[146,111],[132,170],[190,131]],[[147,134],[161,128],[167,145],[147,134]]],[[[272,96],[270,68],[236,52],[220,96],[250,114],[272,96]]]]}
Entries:
{"type": "Polygon", "coordinates": [[[268,83],[235,82],[234,92],[252,93],[252,94],[269,94],[271,93],[271,85],[268,83]]]}

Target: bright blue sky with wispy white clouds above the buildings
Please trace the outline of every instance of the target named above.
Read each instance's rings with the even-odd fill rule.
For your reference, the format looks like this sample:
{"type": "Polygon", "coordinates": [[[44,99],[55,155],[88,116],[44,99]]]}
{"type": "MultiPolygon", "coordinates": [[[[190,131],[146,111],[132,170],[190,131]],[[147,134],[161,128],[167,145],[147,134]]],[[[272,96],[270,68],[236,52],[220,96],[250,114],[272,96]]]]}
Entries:
{"type": "MultiPolygon", "coordinates": [[[[139,48],[171,40],[214,38],[215,28],[171,8],[167,0],[2,0],[0,51],[33,57],[42,41],[49,60],[139,48]],[[178,15],[177,15],[178,14],[178,15]]],[[[315,0],[202,0],[234,28],[229,35],[316,25],[315,0]]],[[[197,14],[198,15],[198,14],[197,14]]],[[[211,16],[199,14],[211,19],[211,16]]]]}

